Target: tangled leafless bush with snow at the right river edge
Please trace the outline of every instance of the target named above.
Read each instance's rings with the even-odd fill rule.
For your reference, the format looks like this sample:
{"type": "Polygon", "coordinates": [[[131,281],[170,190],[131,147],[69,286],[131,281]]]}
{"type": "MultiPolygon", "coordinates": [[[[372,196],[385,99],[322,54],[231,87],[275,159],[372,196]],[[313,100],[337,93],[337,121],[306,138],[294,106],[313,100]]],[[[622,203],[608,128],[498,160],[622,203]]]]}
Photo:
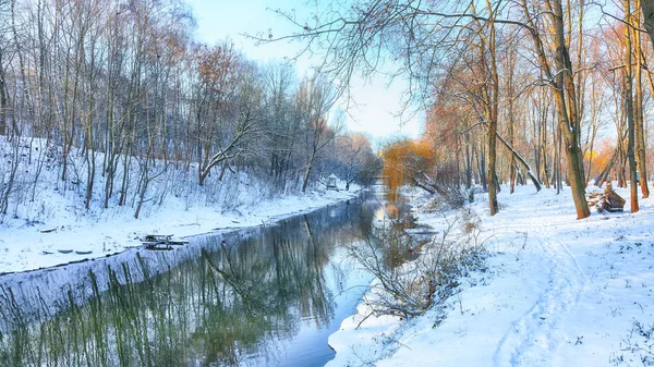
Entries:
{"type": "Polygon", "coordinates": [[[404,319],[422,315],[451,296],[460,277],[484,267],[486,252],[476,217],[461,211],[444,220],[444,231],[429,241],[420,241],[391,223],[350,248],[375,277],[365,297],[375,314],[404,319]]]}

